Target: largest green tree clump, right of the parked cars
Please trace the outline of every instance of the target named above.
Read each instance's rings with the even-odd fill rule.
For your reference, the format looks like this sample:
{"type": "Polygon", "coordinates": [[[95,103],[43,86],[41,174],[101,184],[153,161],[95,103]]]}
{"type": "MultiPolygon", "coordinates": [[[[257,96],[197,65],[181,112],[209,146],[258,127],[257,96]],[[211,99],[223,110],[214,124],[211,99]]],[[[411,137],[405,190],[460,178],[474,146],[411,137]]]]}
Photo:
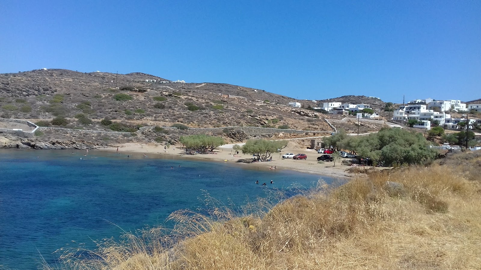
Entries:
{"type": "Polygon", "coordinates": [[[420,133],[411,133],[401,128],[383,128],[378,133],[349,136],[340,132],[325,138],[324,142],[338,149],[347,149],[360,158],[392,164],[424,164],[434,160],[437,150],[420,133]]]}

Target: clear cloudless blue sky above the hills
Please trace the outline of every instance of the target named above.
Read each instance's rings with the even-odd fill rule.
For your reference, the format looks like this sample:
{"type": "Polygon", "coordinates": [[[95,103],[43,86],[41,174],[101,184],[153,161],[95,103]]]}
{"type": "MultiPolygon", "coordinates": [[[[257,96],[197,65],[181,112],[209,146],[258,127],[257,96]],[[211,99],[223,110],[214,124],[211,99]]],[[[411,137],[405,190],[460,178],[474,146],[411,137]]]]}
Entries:
{"type": "Polygon", "coordinates": [[[0,73],[143,72],[292,98],[481,98],[481,1],[3,1],[0,73]]]}

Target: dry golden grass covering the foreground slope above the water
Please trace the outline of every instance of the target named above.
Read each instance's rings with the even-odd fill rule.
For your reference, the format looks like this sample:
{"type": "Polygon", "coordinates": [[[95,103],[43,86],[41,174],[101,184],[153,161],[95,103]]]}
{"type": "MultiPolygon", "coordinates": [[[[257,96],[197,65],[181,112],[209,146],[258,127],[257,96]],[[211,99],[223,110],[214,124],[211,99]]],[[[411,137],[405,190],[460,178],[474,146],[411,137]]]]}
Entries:
{"type": "MultiPolygon", "coordinates": [[[[466,155],[466,154],[464,154],[466,155]]],[[[126,234],[67,269],[481,269],[481,155],[322,185],[258,213],[179,211],[168,234],[126,234]],[[448,164],[454,162],[456,164],[448,164]],[[456,165],[456,166],[455,166],[456,165]],[[404,185],[388,192],[386,182],[404,185]]]]}

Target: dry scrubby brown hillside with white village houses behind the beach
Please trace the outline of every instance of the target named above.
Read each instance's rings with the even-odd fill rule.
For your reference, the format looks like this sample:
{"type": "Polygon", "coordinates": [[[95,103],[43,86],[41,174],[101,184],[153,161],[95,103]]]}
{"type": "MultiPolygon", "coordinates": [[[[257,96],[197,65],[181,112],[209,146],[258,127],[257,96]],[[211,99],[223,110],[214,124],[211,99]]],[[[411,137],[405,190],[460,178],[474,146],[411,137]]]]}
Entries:
{"type": "MultiPolygon", "coordinates": [[[[223,135],[229,142],[252,136],[329,135],[339,129],[366,134],[397,125],[421,133],[437,126],[453,132],[465,127],[478,131],[481,126],[481,104],[460,100],[427,98],[397,105],[367,96],[298,100],[261,89],[170,81],[144,73],[40,69],[0,74],[0,93],[1,133],[29,130],[28,126],[8,122],[24,120],[44,130],[35,139],[49,141],[100,139],[101,143],[112,144],[143,140],[175,144],[179,135],[156,134],[143,128],[175,124],[184,125],[188,131],[210,128],[210,134],[223,135]],[[229,131],[222,131],[225,127],[229,131]],[[245,135],[247,127],[260,129],[245,135]],[[107,133],[95,137],[82,130],[107,133]],[[138,132],[140,136],[115,137],[112,132],[138,132]]],[[[448,141],[442,135],[433,141],[448,141]]],[[[474,136],[479,139],[480,134],[474,136]]],[[[309,145],[306,141],[305,146],[309,145]]]]}

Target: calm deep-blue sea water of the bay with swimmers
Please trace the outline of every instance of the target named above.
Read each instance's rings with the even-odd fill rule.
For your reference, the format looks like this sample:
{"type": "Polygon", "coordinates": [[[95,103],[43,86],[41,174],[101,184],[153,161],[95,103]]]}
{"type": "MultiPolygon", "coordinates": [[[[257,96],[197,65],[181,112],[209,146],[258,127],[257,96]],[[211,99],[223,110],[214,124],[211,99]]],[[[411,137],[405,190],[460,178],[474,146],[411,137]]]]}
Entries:
{"type": "Polygon", "coordinates": [[[228,162],[144,159],[142,154],[127,158],[95,150],[84,157],[85,151],[74,152],[0,150],[3,268],[36,269],[41,256],[54,263],[59,256],[52,254],[55,250],[79,243],[92,249],[92,240],[118,237],[120,228],[165,226],[175,210],[205,207],[203,190],[226,204],[242,205],[275,189],[289,190],[293,183],[315,186],[319,179],[314,174],[245,169],[228,162]],[[271,179],[274,184],[269,184],[271,179]]]}

